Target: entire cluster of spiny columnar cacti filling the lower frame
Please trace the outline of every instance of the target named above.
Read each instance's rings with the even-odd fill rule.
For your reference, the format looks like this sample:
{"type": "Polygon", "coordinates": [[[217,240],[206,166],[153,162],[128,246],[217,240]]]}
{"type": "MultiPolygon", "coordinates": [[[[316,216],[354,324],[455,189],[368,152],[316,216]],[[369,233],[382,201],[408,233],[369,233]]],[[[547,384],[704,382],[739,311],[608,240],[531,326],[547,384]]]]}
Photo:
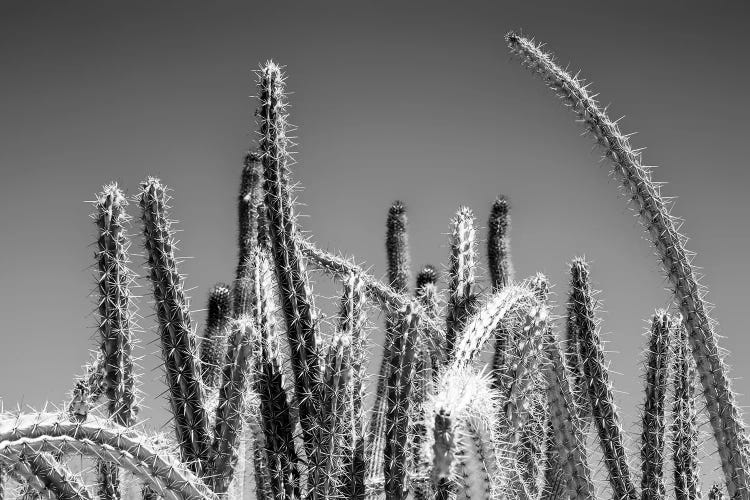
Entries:
{"type": "Polygon", "coordinates": [[[0,414],[0,500],[117,500],[134,481],[144,500],[697,500],[698,387],[725,478],[709,498],[750,499],[750,441],[704,290],[658,184],[577,77],[529,39],[506,39],[603,148],[674,291],[679,313],[651,319],[639,457],[627,448],[586,261],[570,265],[559,332],[547,279],[514,277],[503,196],[488,218],[488,286],[468,207],[450,221],[444,275],[427,265],[412,284],[402,202],[387,216],[385,280],[321,250],[301,235],[285,80],[268,62],[258,71],[259,138],[240,182],[236,272],[231,285],[211,288],[202,336],[179,272],[168,189],[150,177],[135,197],[174,435],[147,434],[136,422],[131,221],[110,184],[93,216],[97,356],[74,382],[66,412],[0,414]],[[335,321],[322,321],[308,268],[340,282],[335,321]],[[383,356],[369,384],[369,318],[378,309],[383,356]],[[606,482],[592,469],[593,447],[606,482]],[[72,456],[90,468],[74,470],[72,456]]]}

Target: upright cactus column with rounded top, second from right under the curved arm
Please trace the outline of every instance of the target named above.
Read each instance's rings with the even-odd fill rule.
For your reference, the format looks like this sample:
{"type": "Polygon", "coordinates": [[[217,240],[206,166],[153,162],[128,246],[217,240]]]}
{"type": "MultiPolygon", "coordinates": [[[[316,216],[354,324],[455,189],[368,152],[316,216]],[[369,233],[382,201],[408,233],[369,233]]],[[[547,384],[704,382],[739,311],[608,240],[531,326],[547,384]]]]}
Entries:
{"type": "Polygon", "coordinates": [[[641,427],[641,499],[664,498],[665,404],[669,383],[672,324],[666,311],[651,321],[651,338],[646,362],[646,400],[641,427]]]}

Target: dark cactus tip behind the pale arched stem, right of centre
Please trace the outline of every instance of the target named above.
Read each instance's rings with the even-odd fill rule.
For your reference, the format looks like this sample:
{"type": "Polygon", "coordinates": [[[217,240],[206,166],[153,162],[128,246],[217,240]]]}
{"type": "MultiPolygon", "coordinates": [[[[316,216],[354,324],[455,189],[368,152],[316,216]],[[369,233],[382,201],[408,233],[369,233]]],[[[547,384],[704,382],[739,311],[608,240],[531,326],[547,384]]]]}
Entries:
{"type": "Polygon", "coordinates": [[[487,257],[492,289],[497,291],[513,281],[510,258],[510,203],[499,196],[492,204],[488,224],[487,257]]]}

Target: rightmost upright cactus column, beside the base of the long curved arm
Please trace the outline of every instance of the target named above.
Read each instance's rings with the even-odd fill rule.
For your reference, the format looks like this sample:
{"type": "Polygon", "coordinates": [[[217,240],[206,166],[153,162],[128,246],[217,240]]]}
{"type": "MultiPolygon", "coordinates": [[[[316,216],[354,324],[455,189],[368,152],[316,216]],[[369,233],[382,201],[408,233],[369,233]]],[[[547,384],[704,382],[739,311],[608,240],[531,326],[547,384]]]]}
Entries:
{"type": "Polygon", "coordinates": [[[701,497],[698,464],[698,414],[695,408],[695,363],[690,356],[685,328],[674,331],[674,404],[672,407],[672,457],[677,500],[701,497]]]}

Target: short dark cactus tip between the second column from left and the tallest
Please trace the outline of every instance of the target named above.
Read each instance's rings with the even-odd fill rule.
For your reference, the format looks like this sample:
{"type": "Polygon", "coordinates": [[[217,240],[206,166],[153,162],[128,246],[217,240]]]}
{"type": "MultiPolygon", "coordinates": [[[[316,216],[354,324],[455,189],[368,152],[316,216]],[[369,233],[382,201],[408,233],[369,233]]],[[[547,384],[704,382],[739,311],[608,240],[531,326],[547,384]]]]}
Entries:
{"type": "Polygon", "coordinates": [[[216,389],[221,383],[226,335],[232,318],[232,291],[224,283],[217,283],[208,292],[206,329],[201,340],[201,379],[206,387],[216,389]]]}

